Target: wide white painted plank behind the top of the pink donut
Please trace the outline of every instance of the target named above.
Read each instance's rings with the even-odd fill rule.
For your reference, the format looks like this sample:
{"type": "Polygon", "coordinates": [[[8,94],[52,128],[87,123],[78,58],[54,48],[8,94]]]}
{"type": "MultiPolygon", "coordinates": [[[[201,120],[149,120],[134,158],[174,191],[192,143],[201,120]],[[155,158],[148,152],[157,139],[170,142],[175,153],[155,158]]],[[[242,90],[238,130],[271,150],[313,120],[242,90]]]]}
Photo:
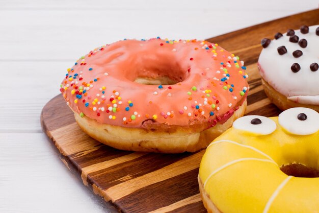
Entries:
{"type": "MultiPolygon", "coordinates": [[[[41,9],[3,9],[0,13],[0,60],[75,60],[97,46],[123,38],[205,39],[318,7],[316,0],[302,5],[291,0],[289,7],[286,0],[280,5],[272,0],[262,7],[258,1],[240,4],[198,1],[195,5],[167,3],[163,4],[164,8],[158,1],[154,1],[155,5],[124,1],[122,5],[119,3],[118,10],[112,10],[112,4],[111,9],[107,4],[103,4],[104,9],[87,9],[86,6],[90,8],[95,4],[86,2],[82,9],[72,8],[72,5],[80,7],[77,5],[82,4],[66,3],[64,9],[54,10],[50,1],[46,1],[49,6],[42,3],[41,9]],[[132,6],[122,9],[125,4],[132,6]],[[134,9],[134,5],[144,9],[134,9]],[[194,10],[190,5],[194,5],[194,10]]],[[[36,4],[32,5],[31,8],[37,8],[36,4]]]]}

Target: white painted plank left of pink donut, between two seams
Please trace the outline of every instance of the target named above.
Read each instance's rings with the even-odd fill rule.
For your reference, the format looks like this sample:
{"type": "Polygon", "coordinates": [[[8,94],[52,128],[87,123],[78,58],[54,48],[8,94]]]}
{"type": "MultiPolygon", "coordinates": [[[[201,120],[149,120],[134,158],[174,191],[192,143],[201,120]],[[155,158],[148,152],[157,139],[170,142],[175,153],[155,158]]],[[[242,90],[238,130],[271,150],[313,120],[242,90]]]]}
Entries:
{"type": "Polygon", "coordinates": [[[60,93],[73,62],[0,62],[0,132],[41,132],[43,106],[60,93]]]}

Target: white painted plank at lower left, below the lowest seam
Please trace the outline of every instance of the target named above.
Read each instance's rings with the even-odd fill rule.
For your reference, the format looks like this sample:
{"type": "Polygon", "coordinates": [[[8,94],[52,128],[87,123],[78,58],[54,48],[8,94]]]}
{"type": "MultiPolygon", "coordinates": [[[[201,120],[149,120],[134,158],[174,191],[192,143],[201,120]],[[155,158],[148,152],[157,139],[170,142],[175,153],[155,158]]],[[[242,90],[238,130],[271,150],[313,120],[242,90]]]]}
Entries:
{"type": "Polygon", "coordinates": [[[42,133],[0,133],[0,212],[108,212],[42,133]]]}

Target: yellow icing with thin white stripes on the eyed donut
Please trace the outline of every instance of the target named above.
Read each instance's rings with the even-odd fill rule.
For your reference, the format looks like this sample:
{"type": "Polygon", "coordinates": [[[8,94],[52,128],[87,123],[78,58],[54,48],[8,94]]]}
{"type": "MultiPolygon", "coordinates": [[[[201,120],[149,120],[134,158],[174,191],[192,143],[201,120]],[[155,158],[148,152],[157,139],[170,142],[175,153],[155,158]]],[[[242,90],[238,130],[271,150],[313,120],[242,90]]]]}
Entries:
{"type": "Polygon", "coordinates": [[[289,163],[319,169],[319,131],[294,135],[270,119],[277,124],[272,134],[230,128],[207,148],[199,177],[221,212],[319,212],[319,178],[288,178],[280,170],[289,163]]]}

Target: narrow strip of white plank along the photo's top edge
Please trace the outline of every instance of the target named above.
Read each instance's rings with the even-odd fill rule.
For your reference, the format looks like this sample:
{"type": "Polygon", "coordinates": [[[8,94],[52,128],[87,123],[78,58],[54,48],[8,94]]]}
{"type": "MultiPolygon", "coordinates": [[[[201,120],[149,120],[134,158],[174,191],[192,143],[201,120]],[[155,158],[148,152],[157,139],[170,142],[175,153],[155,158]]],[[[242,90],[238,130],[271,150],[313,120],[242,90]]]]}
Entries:
{"type": "Polygon", "coordinates": [[[210,0],[197,0],[196,2],[191,0],[117,0],[108,1],[94,0],[93,2],[87,0],[2,0],[1,9],[3,10],[225,10],[229,8],[237,8],[243,10],[282,10],[282,9],[297,9],[300,11],[307,10],[311,5],[318,6],[316,1],[307,1],[307,4],[300,4],[300,1],[296,0],[269,0],[262,5],[259,1],[254,0],[242,0],[242,1],[210,1],[210,0]],[[299,3],[299,4],[296,4],[299,3]]]}

